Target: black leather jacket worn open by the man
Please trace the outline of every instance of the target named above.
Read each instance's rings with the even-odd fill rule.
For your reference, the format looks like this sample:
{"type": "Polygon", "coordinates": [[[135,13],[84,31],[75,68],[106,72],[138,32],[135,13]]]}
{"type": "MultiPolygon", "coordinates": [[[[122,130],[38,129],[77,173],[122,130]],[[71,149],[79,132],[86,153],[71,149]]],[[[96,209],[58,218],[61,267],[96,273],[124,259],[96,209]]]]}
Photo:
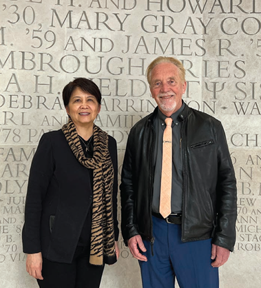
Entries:
{"type": "MultiPolygon", "coordinates": [[[[121,183],[121,229],[126,241],[152,237],[154,110],[129,132],[121,183]]],[[[182,241],[213,238],[233,251],[236,240],[236,178],[220,121],[185,105],[180,146],[183,157],[182,241]]]]}

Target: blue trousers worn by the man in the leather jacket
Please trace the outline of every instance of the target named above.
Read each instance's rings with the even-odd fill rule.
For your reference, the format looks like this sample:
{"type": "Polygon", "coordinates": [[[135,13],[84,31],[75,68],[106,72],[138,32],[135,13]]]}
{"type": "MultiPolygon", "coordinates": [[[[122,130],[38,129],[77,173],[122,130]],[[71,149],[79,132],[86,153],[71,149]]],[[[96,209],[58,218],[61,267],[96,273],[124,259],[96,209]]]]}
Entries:
{"type": "Polygon", "coordinates": [[[218,288],[218,268],[211,266],[211,239],[181,242],[181,225],[152,216],[154,256],[144,241],[147,262],[139,261],[143,288],[218,288]]]}

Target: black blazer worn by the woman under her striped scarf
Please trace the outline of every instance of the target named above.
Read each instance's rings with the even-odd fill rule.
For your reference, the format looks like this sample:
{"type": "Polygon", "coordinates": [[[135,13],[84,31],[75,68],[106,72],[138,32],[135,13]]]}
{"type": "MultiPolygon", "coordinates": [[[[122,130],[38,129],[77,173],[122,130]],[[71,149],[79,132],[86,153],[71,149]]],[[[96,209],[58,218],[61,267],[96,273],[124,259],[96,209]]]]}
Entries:
{"type": "MultiPolygon", "coordinates": [[[[112,136],[109,136],[109,154],[114,167],[113,212],[115,240],[118,240],[118,163],[116,141],[112,136]]],[[[90,169],[77,161],[62,130],[43,134],[28,179],[23,252],[41,251],[49,260],[72,263],[90,207],[90,169]]]]}

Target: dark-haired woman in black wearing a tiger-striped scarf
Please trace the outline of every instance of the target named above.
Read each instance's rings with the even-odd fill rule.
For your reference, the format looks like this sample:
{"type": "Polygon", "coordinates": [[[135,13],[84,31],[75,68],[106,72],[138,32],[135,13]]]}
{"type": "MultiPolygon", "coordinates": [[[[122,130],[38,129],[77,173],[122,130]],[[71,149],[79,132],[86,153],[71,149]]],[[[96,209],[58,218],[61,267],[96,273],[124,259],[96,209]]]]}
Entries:
{"type": "Polygon", "coordinates": [[[99,287],[118,259],[116,141],[94,120],[101,92],[79,78],[63,89],[68,123],[43,134],[25,203],[26,269],[41,288],[99,287]]]}

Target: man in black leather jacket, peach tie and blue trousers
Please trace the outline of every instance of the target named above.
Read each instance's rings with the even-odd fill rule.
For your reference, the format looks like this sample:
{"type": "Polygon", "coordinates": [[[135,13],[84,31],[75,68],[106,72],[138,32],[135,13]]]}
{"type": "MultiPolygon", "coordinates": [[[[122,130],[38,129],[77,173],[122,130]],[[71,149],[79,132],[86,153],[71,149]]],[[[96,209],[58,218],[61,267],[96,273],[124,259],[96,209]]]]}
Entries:
{"type": "Polygon", "coordinates": [[[187,83],[177,59],[152,61],[147,80],[158,107],[129,133],[123,238],[139,260],[144,288],[174,287],[175,278],[180,288],[218,288],[218,267],[236,238],[236,178],[225,132],[182,101],[187,83]]]}

